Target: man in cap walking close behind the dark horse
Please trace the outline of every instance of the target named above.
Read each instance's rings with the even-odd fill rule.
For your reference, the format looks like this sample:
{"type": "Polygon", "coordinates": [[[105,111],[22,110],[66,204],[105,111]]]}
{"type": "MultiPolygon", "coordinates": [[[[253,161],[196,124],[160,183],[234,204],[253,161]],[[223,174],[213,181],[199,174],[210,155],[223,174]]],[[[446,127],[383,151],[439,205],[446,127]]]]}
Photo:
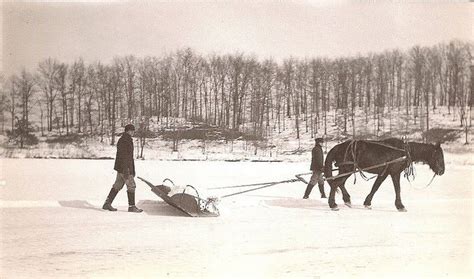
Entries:
{"type": "Polygon", "coordinates": [[[319,192],[321,192],[321,198],[325,198],[326,194],[324,193],[324,179],[323,179],[323,169],[324,169],[324,158],[323,158],[323,148],[321,144],[323,143],[323,138],[316,138],[314,140],[314,147],[311,152],[311,179],[309,180],[306,191],[304,192],[303,199],[309,198],[311,190],[313,190],[316,182],[318,183],[319,192]]]}

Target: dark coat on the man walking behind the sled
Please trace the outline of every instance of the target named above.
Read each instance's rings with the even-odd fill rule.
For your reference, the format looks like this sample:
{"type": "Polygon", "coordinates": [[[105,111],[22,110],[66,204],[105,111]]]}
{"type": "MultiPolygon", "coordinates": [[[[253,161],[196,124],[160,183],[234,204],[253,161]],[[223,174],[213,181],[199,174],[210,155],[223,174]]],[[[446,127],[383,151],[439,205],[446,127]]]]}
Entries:
{"type": "Polygon", "coordinates": [[[115,156],[114,170],[123,174],[135,176],[135,163],[133,162],[133,140],[128,133],[123,133],[117,142],[117,155],[115,156]]]}

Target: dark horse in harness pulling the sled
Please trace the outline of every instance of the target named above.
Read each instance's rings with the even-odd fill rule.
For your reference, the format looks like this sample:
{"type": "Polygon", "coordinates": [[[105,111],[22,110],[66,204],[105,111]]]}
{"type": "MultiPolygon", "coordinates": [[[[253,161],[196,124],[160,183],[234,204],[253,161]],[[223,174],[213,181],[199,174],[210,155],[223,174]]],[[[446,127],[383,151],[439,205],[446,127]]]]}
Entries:
{"type": "Polygon", "coordinates": [[[351,174],[363,170],[377,175],[372,190],[364,201],[367,209],[372,208],[374,194],[390,175],[395,188],[395,207],[398,211],[406,211],[400,197],[400,174],[403,170],[409,170],[412,162],[428,164],[435,175],[444,174],[444,154],[439,142],[427,144],[389,138],[382,141],[347,140],[334,146],[324,163],[324,175],[331,187],[329,207],[338,210],[335,202],[337,188],[342,191],[344,203],[351,206],[351,198],[344,184],[351,174]],[[334,177],[333,163],[339,170],[339,174],[334,177]]]}

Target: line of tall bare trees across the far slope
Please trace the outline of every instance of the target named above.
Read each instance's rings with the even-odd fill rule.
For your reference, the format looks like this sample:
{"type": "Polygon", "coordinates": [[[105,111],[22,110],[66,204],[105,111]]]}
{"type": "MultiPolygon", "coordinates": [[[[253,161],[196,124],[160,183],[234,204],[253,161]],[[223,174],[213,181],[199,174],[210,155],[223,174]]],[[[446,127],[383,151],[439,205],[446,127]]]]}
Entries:
{"type": "Polygon", "coordinates": [[[43,135],[99,135],[114,144],[124,123],[147,130],[153,119],[167,127],[185,119],[266,137],[287,129],[285,119],[291,118],[299,138],[301,129],[326,134],[328,113],[335,111],[343,132],[355,137],[358,112],[378,126],[390,112],[404,111],[407,122],[423,122],[429,130],[430,111],[438,106],[467,127],[474,97],[472,48],[470,42],[451,41],[281,62],[242,53],[203,56],[191,48],[159,57],[115,57],[108,64],[47,58],[33,71],[2,76],[2,132],[9,119],[20,134],[34,126],[43,135]]]}

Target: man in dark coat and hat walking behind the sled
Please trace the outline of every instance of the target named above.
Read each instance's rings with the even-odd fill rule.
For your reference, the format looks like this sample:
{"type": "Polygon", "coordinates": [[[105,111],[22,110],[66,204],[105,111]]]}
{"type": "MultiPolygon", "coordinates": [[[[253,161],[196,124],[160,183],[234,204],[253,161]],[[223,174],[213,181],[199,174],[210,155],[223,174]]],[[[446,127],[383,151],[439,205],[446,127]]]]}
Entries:
{"type": "Polygon", "coordinates": [[[128,212],[142,212],[143,210],[135,206],[135,163],[133,162],[133,140],[135,126],[128,124],[125,126],[125,132],[117,142],[117,155],[115,157],[114,170],[117,171],[115,183],[110,189],[109,195],[105,200],[102,209],[117,211],[112,207],[112,202],[117,193],[127,184],[128,212]]]}

